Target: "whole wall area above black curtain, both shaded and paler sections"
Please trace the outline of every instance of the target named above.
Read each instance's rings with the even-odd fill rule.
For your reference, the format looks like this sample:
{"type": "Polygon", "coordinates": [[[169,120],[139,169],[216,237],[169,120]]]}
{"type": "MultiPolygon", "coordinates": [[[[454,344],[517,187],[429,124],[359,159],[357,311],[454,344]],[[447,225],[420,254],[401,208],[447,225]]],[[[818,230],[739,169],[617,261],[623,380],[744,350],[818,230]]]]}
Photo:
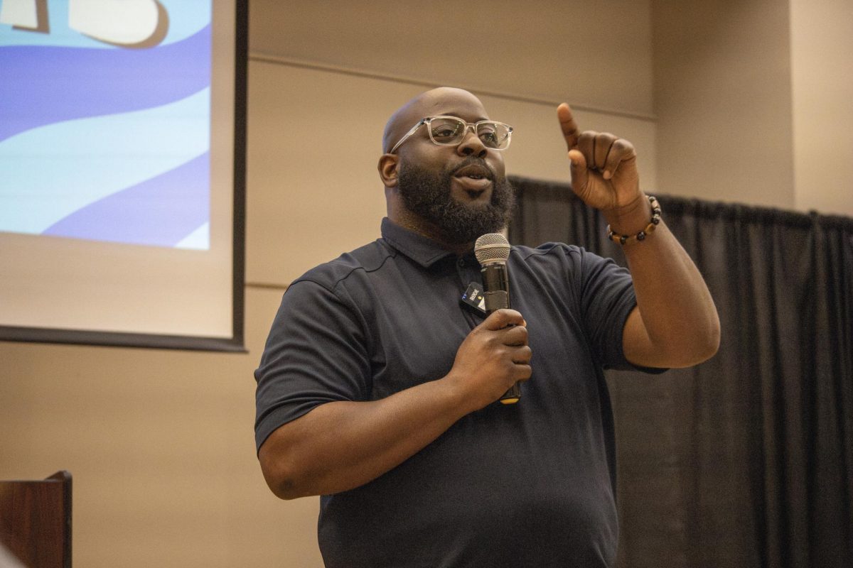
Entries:
{"type": "Polygon", "coordinates": [[[653,0],[663,193],[853,216],[844,0],[653,0]]]}

